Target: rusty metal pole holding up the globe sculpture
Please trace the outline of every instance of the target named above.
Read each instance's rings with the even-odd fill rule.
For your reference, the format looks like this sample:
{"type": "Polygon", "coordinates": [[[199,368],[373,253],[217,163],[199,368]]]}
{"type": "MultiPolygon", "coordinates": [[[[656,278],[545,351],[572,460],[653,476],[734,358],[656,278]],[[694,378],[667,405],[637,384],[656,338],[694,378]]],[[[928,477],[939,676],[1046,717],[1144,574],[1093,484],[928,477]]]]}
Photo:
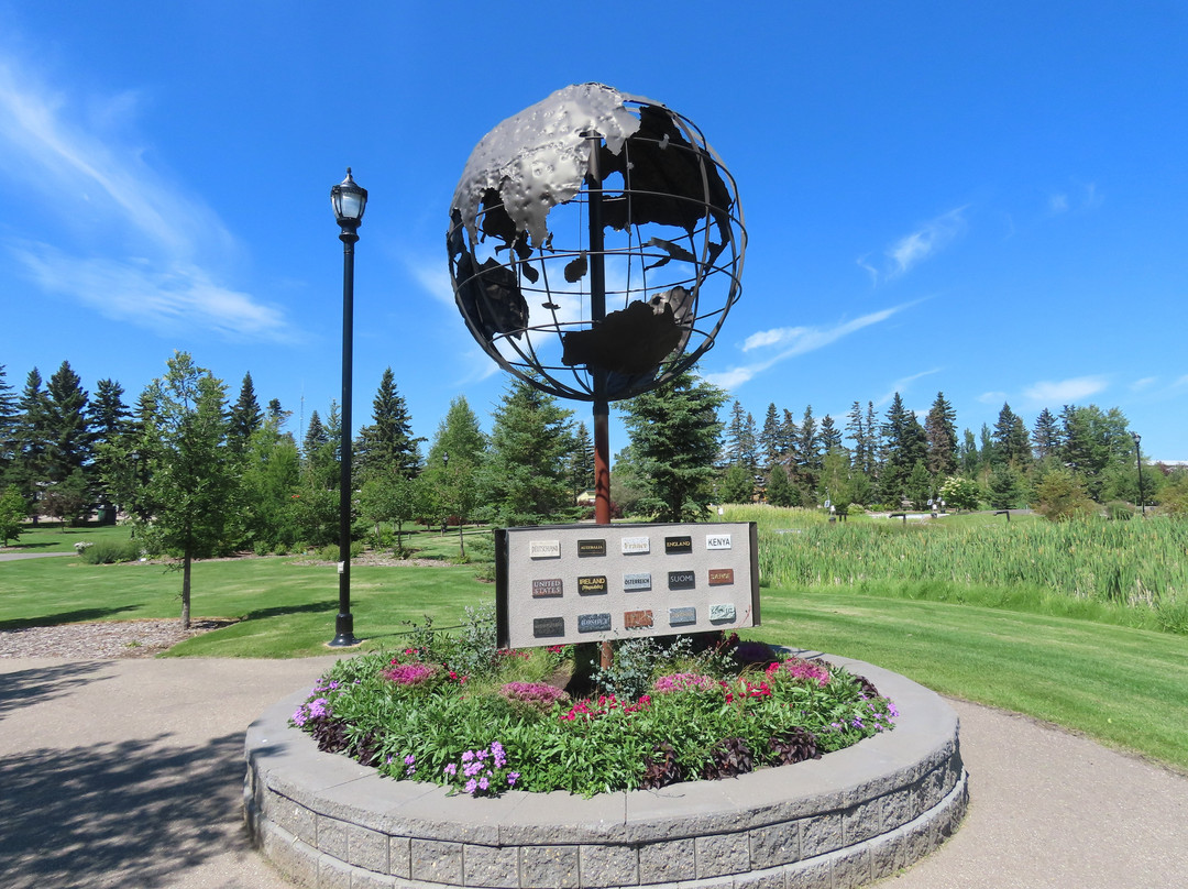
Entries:
{"type": "MultiPolygon", "coordinates": [[[[599,150],[602,137],[588,133],[590,139],[589,174],[586,193],[589,196],[589,257],[590,257],[590,324],[596,327],[606,319],[606,241],[602,237],[602,177],[599,171],[599,150]]],[[[606,371],[592,368],[594,377],[594,522],[611,524],[611,404],[606,397],[606,371]]],[[[602,669],[614,660],[611,643],[602,643],[602,669]]]]}

